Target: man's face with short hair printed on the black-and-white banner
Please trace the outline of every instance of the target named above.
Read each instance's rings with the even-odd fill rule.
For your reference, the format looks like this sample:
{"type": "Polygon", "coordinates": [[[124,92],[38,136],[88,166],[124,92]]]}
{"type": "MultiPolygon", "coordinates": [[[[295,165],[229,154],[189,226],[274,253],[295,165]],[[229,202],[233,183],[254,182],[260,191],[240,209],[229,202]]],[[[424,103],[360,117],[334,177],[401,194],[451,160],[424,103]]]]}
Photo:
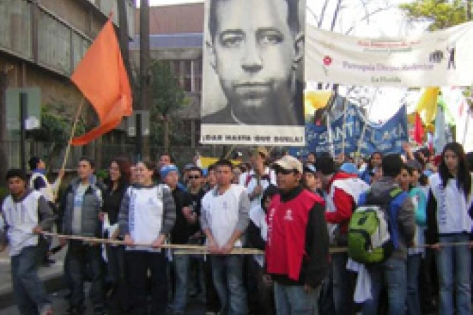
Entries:
{"type": "MultiPolygon", "coordinates": [[[[291,101],[296,34],[286,0],[217,0],[213,68],[233,110],[291,101]]],[[[289,104],[288,104],[289,105],[289,104]]]]}

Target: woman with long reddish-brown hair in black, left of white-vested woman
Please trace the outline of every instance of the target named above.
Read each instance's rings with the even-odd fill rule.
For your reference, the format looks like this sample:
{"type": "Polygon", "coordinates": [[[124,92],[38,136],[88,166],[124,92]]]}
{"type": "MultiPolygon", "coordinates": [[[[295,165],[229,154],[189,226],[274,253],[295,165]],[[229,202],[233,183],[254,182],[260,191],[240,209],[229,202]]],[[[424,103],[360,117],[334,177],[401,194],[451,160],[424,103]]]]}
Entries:
{"type": "MultiPolygon", "coordinates": [[[[107,188],[103,196],[103,227],[104,236],[113,240],[118,239],[118,212],[123,196],[130,183],[131,165],[125,158],[115,158],[108,167],[107,188]]],[[[107,245],[107,278],[108,314],[120,315],[127,313],[127,282],[125,276],[125,247],[122,245],[107,245]]]]}

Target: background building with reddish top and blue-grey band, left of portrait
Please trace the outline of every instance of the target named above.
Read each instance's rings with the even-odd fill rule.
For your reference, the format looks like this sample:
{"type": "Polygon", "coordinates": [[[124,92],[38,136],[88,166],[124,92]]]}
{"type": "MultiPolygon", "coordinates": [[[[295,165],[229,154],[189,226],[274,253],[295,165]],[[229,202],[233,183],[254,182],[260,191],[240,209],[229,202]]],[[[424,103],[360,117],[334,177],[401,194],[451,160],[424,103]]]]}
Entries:
{"type": "MultiPolygon", "coordinates": [[[[167,60],[175,79],[191,99],[177,113],[182,120],[182,132],[195,149],[200,139],[200,113],[203,56],[203,3],[153,6],[149,13],[150,54],[154,60],[167,60]]],[[[135,35],[130,43],[130,59],[139,67],[139,8],[135,14],[135,35]]],[[[180,130],[180,129],[179,129],[180,130]]]]}

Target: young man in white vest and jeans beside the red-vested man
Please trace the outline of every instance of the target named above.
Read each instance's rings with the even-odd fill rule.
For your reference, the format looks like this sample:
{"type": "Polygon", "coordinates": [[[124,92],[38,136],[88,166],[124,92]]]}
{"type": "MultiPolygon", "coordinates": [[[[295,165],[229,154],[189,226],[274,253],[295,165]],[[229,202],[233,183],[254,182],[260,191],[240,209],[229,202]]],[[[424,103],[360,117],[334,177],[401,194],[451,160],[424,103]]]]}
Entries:
{"type": "Polygon", "coordinates": [[[232,184],[232,162],[216,164],[217,186],[202,199],[201,225],[211,254],[213,283],[222,307],[220,314],[246,315],[243,256],[229,255],[241,247],[248,226],[250,201],[244,186],[232,184]]]}

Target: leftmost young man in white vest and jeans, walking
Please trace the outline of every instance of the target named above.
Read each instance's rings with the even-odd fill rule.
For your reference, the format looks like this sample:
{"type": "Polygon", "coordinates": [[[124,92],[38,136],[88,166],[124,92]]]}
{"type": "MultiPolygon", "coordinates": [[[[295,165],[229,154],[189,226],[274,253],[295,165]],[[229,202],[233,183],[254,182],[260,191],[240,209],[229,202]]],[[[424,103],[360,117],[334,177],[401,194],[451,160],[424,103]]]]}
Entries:
{"type": "Polygon", "coordinates": [[[8,243],[13,295],[20,314],[52,315],[51,300],[38,278],[38,234],[51,229],[54,214],[44,196],[26,186],[26,174],[10,169],[8,195],[0,212],[0,252],[8,243]]]}

